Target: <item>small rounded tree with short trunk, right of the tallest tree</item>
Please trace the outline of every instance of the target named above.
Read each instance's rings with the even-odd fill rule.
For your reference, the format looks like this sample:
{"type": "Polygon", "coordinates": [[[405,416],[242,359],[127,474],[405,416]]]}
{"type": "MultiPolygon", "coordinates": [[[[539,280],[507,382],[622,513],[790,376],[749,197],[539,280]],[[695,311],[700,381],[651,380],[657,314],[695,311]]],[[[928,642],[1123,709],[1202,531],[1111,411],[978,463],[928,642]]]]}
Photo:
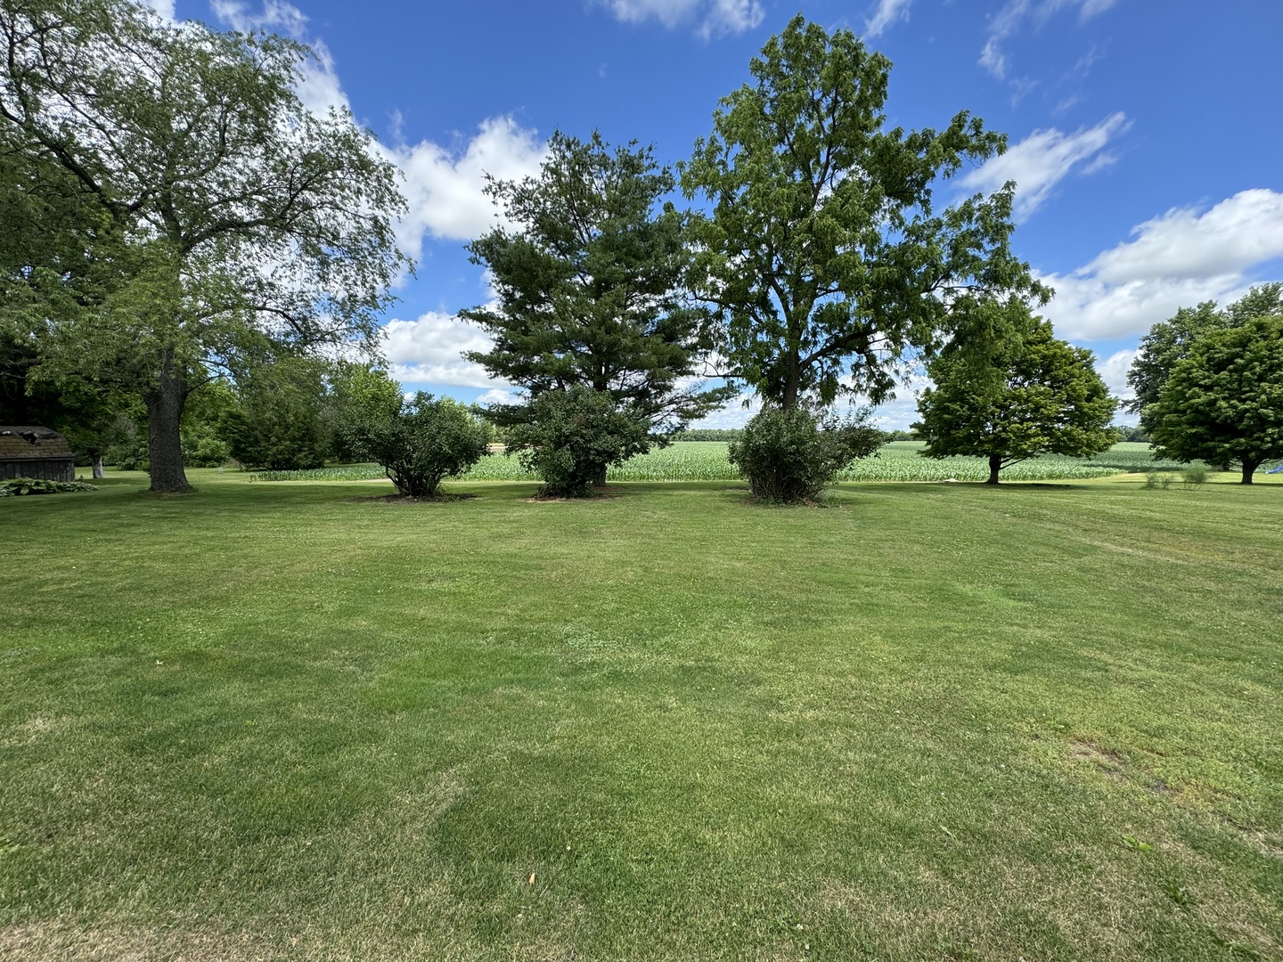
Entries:
{"type": "Polygon", "coordinates": [[[928,458],[988,458],[989,478],[1039,454],[1089,458],[1117,440],[1110,421],[1117,401],[1096,371],[1094,357],[1053,336],[1035,319],[1021,337],[993,349],[983,367],[948,351],[928,366],[934,387],[922,391],[913,425],[928,458]]]}

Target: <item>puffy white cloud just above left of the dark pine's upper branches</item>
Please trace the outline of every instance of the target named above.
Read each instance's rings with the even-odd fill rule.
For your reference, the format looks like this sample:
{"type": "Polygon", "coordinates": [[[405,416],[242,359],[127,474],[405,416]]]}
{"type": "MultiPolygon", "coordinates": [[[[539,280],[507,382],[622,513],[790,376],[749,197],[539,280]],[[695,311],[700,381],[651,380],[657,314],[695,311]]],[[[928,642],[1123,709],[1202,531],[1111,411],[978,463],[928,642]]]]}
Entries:
{"type": "Polygon", "coordinates": [[[539,173],[547,145],[511,117],[482,121],[462,150],[430,140],[385,148],[405,174],[409,210],[398,235],[402,249],[418,255],[425,233],[446,240],[472,240],[493,227],[495,208],[485,196],[485,176],[521,180],[539,173]]]}

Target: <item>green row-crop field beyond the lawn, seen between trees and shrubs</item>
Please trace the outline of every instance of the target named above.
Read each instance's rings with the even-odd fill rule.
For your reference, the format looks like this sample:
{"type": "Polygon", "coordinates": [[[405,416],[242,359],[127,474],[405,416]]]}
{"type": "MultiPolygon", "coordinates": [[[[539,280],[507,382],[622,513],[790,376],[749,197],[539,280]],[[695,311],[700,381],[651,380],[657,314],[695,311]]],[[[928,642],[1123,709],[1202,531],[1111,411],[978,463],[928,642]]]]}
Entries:
{"type": "MultiPolygon", "coordinates": [[[[984,458],[924,458],[919,441],[892,441],[876,458],[865,458],[842,472],[843,481],[983,481],[989,476],[984,458]]],[[[1125,471],[1179,472],[1183,466],[1155,460],[1147,444],[1116,444],[1097,458],[1047,455],[1012,464],[1002,472],[1008,481],[1091,478],[1125,471]]],[[[314,471],[262,471],[262,481],[371,481],[384,476],[377,464],[348,464],[314,471]]],[[[734,481],[739,472],[726,459],[724,441],[676,441],[611,468],[611,481],[734,481]]],[[[534,481],[512,455],[482,458],[468,481],[534,481]]]]}

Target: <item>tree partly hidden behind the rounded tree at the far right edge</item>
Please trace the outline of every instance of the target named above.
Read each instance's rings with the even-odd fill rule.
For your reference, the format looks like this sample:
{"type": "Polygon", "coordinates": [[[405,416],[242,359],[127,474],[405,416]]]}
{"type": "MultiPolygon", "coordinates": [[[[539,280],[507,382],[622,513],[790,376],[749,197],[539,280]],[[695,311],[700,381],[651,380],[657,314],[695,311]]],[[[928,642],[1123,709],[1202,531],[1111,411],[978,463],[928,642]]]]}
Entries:
{"type": "Polygon", "coordinates": [[[1153,434],[1159,423],[1157,404],[1175,369],[1202,335],[1238,327],[1257,317],[1283,317],[1283,283],[1262,283],[1223,310],[1205,300],[1196,308],[1180,308],[1173,317],[1150,328],[1141,339],[1126,382],[1134,396],[1125,408],[1141,416],[1141,428],[1153,434]]]}

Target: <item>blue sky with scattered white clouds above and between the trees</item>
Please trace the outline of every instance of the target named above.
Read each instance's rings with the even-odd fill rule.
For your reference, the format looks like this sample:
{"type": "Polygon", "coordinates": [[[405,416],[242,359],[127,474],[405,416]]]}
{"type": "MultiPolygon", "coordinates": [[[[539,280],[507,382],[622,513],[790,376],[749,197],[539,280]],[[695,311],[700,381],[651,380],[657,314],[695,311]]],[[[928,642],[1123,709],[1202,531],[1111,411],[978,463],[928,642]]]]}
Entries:
{"type": "MultiPolygon", "coordinates": [[[[967,109],[1010,137],[955,191],[1019,185],[1015,249],[1057,289],[1044,312],[1125,391],[1137,340],[1182,305],[1283,278],[1283,3],[1230,0],[151,0],[168,15],[312,44],[303,94],[346,104],[405,173],[385,350],[407,389],[498,399],[463,362],[488,299],[463,244],[493,212],[484,172],[538,169],[554,130],[653,144],[675,163],[798,10],[885,53],[889,121],[967,109]]],[[[915,385],[883,408],[913,419],[915,385]]],[[[711,423],[747,417],[739,404],[711,423]]]]}

